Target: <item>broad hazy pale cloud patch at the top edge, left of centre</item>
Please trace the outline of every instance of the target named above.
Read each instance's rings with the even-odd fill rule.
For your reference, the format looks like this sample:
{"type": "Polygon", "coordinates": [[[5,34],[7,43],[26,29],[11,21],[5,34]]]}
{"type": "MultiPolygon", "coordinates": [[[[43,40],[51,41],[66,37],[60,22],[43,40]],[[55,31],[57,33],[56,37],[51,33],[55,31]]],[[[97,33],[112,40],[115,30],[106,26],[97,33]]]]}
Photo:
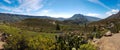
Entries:
{"type": "Polygon", "coordinates": [[[25,12],[39,10],[43,7],[42,0],[21,0],[21,4],[17,9],[24,10],[25,12]]]}

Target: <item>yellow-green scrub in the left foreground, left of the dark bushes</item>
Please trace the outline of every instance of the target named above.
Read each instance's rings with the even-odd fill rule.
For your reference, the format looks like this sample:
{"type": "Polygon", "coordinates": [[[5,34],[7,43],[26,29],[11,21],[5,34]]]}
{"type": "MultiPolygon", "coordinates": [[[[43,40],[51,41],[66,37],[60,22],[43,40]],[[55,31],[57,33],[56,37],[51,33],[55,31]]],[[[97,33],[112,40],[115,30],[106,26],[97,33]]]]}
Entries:
{"type": "Polygon", "coordinates": [[[55,43],[55,34],[23,31],[6,25],[0,25],[0,30],[12,35],[6,39],[5,50],[50,50],[55,43]]]}

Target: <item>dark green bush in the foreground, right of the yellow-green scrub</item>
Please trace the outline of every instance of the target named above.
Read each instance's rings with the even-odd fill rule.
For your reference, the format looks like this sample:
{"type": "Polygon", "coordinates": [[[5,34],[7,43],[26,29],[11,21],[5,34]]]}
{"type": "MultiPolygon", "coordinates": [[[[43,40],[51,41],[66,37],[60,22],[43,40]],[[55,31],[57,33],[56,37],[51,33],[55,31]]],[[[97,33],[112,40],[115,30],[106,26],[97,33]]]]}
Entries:
{"type": "Polygon", "coordinates": [[[79,49],[80,45],[87,44],[87,39],[79,33],[66,33],[56,37],[56,50],[79,49]]]}

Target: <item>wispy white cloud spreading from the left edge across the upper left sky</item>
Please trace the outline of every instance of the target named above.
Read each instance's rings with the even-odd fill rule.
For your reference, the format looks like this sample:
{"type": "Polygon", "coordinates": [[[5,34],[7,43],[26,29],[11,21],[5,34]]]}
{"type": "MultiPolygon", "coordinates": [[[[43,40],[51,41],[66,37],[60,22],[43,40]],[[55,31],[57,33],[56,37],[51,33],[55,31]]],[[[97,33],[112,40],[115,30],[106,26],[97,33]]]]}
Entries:
{"type": "MultiPolygon", "coordinates": [[[[6,2],[11,2],[9,0],[5,0],[6,2]]],[[[37,11],[43,7],[42,0],[18,0],[19,5],[16,7],[8,7],[0,3],[0,8],[7,10],[7,11],[13,11],[13,12],[32,12],[37,11]]]]}

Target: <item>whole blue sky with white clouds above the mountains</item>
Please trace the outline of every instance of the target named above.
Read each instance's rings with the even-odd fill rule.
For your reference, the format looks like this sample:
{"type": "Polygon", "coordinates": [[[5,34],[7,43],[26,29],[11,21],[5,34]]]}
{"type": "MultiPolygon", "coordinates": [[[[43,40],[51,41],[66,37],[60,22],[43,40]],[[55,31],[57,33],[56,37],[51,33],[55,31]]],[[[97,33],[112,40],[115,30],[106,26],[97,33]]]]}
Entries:
{"type": "Polygon", "coordinates": [[[120,10],[120,0],[0,0],[0,13],[70,18],[83,14],[106,18],[120,10]]]}

